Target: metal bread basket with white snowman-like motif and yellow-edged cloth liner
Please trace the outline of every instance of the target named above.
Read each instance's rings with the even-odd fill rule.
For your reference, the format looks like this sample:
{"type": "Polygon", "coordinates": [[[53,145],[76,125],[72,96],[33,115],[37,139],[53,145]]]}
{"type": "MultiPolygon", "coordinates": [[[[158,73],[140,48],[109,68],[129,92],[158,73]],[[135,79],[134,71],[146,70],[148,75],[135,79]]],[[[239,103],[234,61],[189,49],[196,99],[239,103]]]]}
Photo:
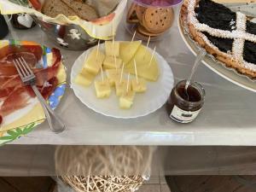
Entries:
{"type": "Polygon", "coordinates": [[[108,0],[86,0],[93,4],[102,2],[94,7],[99,13],[99,17],[90,21],[80,19],[79,16],[44,15],[41,10],[47,0],[39,1],[42,7],[38,10],[33,6],[32,2],[34,1],[38,0],[28,0],[26,3],[23,0],[0,0],[1,14],[29,14],[53,43],[65,49],[83,50],[95,45],[98,39],[113,38],[122,19],[127,0],[112,0],[111,2],[108,0]],[[114,6],[109,6],[108,9],[110,3],[114,6]],[[102,11],[104,4],[106,9],[102,11]]]}

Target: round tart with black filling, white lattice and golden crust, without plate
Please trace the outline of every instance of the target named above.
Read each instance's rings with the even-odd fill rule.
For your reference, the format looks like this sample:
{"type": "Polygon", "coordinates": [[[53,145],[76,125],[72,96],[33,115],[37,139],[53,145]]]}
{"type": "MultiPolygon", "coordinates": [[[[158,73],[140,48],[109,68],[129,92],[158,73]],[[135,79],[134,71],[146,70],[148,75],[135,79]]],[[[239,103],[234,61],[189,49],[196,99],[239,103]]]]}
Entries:
{"type": "Polygon", "coordinates": [[[256,78],[256,24],[246,15],[211,0],[185,0],[181,22],[218,61],[256,78]]]}

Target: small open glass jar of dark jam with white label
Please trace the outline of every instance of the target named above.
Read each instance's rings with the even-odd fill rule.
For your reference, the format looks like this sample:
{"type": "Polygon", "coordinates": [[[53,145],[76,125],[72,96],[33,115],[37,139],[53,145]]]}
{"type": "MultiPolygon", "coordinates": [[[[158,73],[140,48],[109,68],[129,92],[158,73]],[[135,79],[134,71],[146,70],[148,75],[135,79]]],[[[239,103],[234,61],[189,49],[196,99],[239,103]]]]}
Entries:
{"type": "Polygon", "coordinates": [[[178,82],[166,103],[169,117],[179,123],[190,123],[195,120],[205,98],[205,90],[201,84],[190,83],[187,90],[185,84],[186,80],[178,82]]]}

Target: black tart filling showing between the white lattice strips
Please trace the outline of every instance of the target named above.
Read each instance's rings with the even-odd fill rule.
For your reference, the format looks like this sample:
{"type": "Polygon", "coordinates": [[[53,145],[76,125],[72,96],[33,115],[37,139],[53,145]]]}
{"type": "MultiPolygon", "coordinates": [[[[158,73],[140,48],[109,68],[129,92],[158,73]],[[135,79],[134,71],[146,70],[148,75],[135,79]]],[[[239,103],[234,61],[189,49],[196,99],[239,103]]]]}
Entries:
{"type": "MultiPolygon", "coordinates": [[[[199,7],[195,8],[196,18],[201,23],[207,24],[215,29],[226,31],[236,30],[236,12],[231,11],[222,4],[214,3],[211,0],[201,0],[199,7]]],[[[256,35],[256,24],[247,21],[247,32],[256,35]]],[[[219,50],[227,53],[232,50],[234,39],[212,37],[203,32],[207,38],[218,47],[219,50]]],[[[246,41],[243,51],[244,60],[256,65],[256,44],[246,41]]]]}

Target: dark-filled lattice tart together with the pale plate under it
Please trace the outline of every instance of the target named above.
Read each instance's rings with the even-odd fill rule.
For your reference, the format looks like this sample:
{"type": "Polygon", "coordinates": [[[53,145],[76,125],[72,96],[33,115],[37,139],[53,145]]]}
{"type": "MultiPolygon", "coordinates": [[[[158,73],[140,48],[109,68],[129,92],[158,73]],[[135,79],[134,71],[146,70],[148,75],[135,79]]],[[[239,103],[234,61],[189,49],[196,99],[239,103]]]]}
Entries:
{"type": "Polygon", "coordinates": [[[185,0],[178,28],[189,49],[213,72],[247,90],[256,92],[256,23],[212,0],[185,0]]]}

